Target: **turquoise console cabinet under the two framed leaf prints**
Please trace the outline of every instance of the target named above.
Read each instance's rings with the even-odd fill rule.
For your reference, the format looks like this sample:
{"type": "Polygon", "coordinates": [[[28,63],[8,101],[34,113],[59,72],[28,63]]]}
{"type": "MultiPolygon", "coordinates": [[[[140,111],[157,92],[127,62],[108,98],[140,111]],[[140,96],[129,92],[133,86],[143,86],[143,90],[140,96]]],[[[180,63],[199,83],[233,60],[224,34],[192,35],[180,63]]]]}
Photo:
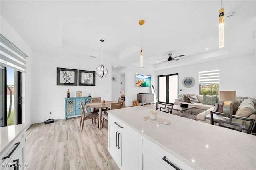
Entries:
{"type": "MultiPolygon", "coordinates": [[[[81,115],[81,107],[80,103],[82,102],[83,105],[86,103],[92,102],[92,97],[70,97],[65,98],[65,120],[67,120],[67,117],[74,117],[74,116],[80,116],[81,115]]],[[[86,108],[87,112],[91,111],[91,108],[86,108]]]]}

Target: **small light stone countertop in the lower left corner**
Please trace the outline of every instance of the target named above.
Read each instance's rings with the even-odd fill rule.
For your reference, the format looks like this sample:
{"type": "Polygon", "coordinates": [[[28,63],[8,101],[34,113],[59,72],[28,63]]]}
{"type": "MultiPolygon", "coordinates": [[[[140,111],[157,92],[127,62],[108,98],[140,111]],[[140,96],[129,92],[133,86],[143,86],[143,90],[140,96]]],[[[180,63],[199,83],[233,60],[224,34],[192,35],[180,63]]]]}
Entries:
{"type": "Polygon", "coordinates": [[[7,127],[0,127],[0,154],[2,155],[4,151],[10,146],[10,144],[24,131],[28,128],[29,123],[23,123],[19,125],[11,125],[7,127]]]}

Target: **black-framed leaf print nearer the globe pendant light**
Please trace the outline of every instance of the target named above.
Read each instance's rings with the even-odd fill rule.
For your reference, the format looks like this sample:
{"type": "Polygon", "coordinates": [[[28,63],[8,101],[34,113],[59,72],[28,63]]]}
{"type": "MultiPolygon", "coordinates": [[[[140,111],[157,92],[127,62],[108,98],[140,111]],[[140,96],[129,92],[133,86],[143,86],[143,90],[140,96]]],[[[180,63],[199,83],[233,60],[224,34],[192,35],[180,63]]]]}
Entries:
{"type": "Polygon", "coordinates": [[[79,85],[95,86],[95,71],[79,70],[79,85]]]}

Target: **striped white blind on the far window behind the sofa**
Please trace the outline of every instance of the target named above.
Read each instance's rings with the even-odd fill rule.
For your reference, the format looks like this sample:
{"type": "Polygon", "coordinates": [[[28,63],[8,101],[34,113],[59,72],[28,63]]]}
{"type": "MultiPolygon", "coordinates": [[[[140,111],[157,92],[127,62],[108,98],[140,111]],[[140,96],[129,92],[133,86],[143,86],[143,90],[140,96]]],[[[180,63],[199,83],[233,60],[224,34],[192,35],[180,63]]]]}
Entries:
{"type": "Polygon", "coordinates": [[[219,70],[199,72],[199,84],[218,84],[219,70]]]}

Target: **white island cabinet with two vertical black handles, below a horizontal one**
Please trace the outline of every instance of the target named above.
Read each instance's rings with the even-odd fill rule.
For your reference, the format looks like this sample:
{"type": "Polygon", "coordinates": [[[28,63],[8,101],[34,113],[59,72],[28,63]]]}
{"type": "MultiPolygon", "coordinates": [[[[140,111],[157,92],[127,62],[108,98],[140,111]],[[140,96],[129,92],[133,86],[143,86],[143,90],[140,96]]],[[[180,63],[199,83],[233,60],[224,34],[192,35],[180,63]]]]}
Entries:
{"type": "Polygon", "coordinates": [[[138,132],[108,114],[108,151],[120,169],[138,169],[138,132]]]}

